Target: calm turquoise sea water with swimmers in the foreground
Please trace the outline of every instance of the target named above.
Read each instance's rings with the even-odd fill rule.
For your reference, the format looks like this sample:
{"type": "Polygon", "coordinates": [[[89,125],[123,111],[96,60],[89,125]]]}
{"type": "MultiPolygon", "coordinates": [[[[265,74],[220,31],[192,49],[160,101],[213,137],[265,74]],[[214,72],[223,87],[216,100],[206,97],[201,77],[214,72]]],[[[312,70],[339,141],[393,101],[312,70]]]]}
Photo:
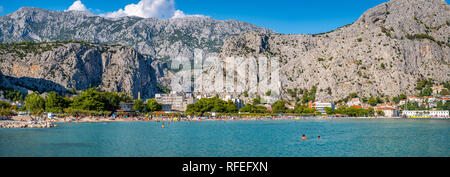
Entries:
{"type": "Polygon", "coordinates": [[[0,156],[449,157],[449,120],[64,123],[0,129],[0,156]],[[301,140],[302,134],[308,139],[301,140]],[[317,136],[321,136],[319,140],[317,136]]]}

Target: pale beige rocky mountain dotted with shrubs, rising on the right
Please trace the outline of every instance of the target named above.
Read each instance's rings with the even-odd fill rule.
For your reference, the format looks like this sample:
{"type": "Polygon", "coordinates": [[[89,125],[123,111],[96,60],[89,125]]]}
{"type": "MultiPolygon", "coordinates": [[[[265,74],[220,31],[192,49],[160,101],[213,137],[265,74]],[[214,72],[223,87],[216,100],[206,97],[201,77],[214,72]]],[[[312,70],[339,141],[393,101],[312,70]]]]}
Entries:
{"type": "MultiPolygon", "coordinates": [[[[228,65],[242,61],[225,57],[278,58],[282,98],[294,100],[292,90],[317,86],[316,100],[336,101],[353,92],[360,97],[414,94],[420,79],[449,81],[449,53],[450,6],[445,0],[391,0],[328,33],[231,37],[220,57],[228,65]]],[[[204,78],[214,80],[214,68],[219,67],[205,70],[209,76],[204,78]]]]}

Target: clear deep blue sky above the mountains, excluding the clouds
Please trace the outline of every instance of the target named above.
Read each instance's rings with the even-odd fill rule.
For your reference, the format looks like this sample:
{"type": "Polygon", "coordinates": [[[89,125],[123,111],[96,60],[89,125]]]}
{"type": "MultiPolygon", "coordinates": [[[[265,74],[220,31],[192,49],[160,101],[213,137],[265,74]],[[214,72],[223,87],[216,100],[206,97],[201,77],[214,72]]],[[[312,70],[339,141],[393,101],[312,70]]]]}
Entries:
{"type": "MultiPolygon", "coordinates": [[[[2,0],[0,16],[20,7],[63,11],[75,0],[2,0]]],[[[140,0],[81,0],[94,14],[124,9],[140,0]]],[[[158,1],[158,0],[148,0],[158,1]]],[[[166,0],[160,0],[166,1],[166,0]]],[[[167,0],[170,1],[170,0],[167,0]]],[[[314,34],[327,32],[357,20],[366,10],[388,0],[174,0],[184,14],[214,19],[235,19],[273,29],[279,33],[314,34]]]]}

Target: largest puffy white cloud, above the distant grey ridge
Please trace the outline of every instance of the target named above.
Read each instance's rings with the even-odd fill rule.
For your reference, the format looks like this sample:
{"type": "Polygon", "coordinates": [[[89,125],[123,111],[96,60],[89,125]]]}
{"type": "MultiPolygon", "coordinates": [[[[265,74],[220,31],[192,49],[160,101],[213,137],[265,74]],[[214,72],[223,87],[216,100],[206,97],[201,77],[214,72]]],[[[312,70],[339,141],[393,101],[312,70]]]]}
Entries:
{"type": "Polygon", "coordinates": [[[186,15],[181,10],[176,10],[174,0],[141,0],[137,4],[129,4],[123,9],[101,14],[101,16],[109,18],[124,16],[137,16],[142,18],[184,18],[190,16],[205,17],[203,15],[186,15]]]}

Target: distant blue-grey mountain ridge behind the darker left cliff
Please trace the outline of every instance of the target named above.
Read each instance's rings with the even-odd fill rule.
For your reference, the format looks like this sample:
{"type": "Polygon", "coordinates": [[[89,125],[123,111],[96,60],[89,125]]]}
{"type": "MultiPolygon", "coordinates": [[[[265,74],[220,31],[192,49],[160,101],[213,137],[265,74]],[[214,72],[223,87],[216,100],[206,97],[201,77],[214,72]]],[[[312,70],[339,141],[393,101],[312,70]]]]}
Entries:
{"type": "Polygon", "coordinates": [[[223,40],[250,31],[273,31],[236,20],[95,16],[81,11],[23,7],[0,17],[0,42],[86,41],[132,46],[155,59],[192,58],[194,49],[216,53],[223,40]]]}

